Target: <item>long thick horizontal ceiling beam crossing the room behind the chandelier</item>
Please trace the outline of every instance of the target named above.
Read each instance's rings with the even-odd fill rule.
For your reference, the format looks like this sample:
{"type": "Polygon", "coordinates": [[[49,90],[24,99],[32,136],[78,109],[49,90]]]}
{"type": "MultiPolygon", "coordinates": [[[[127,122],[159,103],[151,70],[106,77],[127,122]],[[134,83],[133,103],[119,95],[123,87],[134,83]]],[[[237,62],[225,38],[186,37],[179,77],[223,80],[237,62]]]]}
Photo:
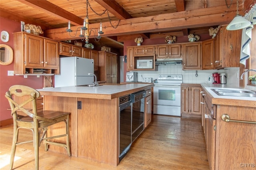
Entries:
{"type": "MultiPolygon", "coordinates": [[[[227,9],[226,6],[217,6],[205,9],[176,12],[174,14],[160,14],[156,16],[131,18],[121,20],[118,28],[114,29],[109,22],[102,23],[102,37],[123,36],[130,34],[141,34],[155,32],[155,30],[171,31],[185,28],[197,28],[206,26],[216,26],[228,24],[234,18],[235,6],[227,9]],[[225,11],[225,12],[223,12],[225,11]]],[[[118,21],[114,21],[116,24],[118,21]]],[[[73,26],[72,30],[77,30],[78,26],[73,26]]],[[[90,24],[90,28],[98,28],[98,24],[90,24]]],[[[65,28],[46,30],[45,36],[54,40],[75,40],[79,36],[71,38],[65,28]]]]}

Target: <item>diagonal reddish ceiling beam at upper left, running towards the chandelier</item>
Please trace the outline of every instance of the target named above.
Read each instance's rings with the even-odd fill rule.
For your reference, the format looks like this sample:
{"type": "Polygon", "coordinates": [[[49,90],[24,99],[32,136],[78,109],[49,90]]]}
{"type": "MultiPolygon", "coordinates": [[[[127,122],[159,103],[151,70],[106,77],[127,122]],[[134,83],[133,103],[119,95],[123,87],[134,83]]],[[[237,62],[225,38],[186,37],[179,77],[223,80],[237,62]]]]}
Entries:
{"type": "Polygon", "coordinates": [[[33,8],[36,8],[38,10],[42,10],[44,12],[47,12],[49,15],[56,16],[58,18],[62,18],[63,20],[70,20],[70,23],[79,26],[82,25],[84,22],[84,19],[50,3],[47,0],[18,0],[19,2],[22,2],[23,4],[26,4],[28,6],[32,6],[33,8]]]}

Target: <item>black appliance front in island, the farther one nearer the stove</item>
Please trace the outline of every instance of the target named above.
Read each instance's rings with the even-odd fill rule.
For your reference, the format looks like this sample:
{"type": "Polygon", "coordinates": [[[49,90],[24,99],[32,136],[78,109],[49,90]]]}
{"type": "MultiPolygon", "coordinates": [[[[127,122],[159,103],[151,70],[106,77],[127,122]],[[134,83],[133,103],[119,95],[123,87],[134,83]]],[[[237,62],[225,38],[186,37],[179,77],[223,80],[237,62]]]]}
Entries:
{"type": "Polygon", "coordinates": [[[132,93],[132,142],[144,130],[146,91],[132,93]]]}

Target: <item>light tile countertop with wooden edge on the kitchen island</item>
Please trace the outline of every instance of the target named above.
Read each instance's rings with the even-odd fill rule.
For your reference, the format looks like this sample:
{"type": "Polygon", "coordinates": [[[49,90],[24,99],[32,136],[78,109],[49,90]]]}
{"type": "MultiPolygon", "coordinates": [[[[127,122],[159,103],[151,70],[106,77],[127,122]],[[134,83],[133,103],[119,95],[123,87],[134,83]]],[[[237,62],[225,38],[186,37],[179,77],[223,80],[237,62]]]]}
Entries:
{"type": "Polygon", "coordinates": [[[37,89],[41,95],[52,95],[62,97],[83,97],[94,99],[114,99],[135,93],[143,89],[149,89],[154,85],[150,84],[113,84],[113,85],[100,85],[95,87],[87,86],[68,86],[68,87],[46,87],[43,89],[37,89]]]}

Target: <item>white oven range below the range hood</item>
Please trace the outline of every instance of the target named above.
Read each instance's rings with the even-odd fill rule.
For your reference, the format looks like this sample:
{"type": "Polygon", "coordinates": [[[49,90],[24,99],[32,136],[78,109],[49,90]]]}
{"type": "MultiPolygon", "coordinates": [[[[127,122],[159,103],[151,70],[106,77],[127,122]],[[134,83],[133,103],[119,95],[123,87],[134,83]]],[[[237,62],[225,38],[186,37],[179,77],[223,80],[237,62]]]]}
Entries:
{"type": "Polygon", "coordinates": [[[154,114],[181,116],[180,93],[182,75],[158,75],[158,83],[154,83],[154,114]]]}

